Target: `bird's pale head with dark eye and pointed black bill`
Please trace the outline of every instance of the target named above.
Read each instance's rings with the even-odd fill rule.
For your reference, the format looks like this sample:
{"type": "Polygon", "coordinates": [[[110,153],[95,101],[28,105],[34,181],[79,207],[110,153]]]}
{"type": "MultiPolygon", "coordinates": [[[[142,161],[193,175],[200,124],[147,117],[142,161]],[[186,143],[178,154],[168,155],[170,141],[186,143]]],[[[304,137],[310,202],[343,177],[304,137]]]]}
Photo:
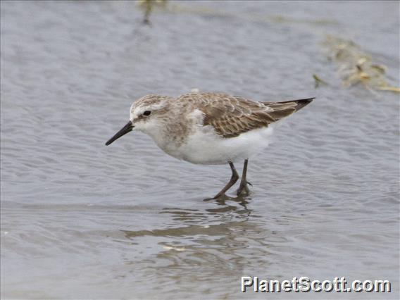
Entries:
{"type": "Polygon", "coordinates": [[[129,122],[106,142],[106,146],[132,130],[156,135],[163,127],[168,114],[168,97],[158,95],[144,96],[130,107],[129,122]]]}

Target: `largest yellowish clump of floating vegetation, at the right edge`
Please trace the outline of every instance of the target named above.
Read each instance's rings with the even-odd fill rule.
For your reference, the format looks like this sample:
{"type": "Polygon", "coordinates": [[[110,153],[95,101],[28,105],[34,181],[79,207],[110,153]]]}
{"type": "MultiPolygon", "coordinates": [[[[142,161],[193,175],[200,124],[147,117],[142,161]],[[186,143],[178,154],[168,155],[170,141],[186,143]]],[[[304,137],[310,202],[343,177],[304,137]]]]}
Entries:
{"type": "Polygon", "coordinates": [[[346,87],[362,84],[366,89],[400,93],[385,76],[386,65],[374,64],[372,58],[348,39],[327,36],[324,42],[328,56],[339,65],[339,73],[346,87]]]}

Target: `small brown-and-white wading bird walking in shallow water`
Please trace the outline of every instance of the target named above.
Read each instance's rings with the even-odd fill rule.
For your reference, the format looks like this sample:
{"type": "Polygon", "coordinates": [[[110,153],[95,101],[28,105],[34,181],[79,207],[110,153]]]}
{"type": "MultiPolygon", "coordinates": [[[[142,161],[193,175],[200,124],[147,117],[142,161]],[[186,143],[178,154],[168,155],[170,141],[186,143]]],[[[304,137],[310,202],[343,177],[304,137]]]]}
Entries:
{"type": "Polygon", "coordinates": [[[222,93],[193,93],[177,98],[148,95],[132,104],[129,122],[106,145],[139,130],[175,158],[203,165],[229,163],[232,177],[213,199],[224,196],[235,185],[239,175],[233,163],[244,160],[237,195],[247,194],[249,157],[268,146],[275,122],[313,99],[256,102],[222,93]]]}

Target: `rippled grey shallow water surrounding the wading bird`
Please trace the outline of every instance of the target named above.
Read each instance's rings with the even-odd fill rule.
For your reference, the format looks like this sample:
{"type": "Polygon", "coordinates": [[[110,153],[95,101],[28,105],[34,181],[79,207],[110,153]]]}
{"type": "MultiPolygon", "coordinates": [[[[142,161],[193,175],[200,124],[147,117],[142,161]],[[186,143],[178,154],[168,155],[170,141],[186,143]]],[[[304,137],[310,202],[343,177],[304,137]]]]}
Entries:
{"type": "Polygon", "coordinates": [[[353,39],[399,85],[399,2],[170,5],[150,27],[133,2],[1,1],[2,298],[398,299],[399,96],[342,87],[320,42],[353,39]],[[192,88],[317,100],[250,160],[251,195],[205,202],[227,166],[139,133],[104,146],[135,99],[192,88]],[[243,294],[242,275],[393,291],[243,294]]]}

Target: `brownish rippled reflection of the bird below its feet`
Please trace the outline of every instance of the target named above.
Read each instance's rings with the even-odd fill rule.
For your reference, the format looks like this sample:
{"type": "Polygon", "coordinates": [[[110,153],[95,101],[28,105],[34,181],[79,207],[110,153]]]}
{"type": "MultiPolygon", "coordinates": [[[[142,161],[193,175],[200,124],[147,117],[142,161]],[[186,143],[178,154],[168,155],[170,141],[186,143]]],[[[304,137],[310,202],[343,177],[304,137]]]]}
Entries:
{"type": "Polygon", "coordinates": [[[208,280],[215,274],[237,276],[252,263],[270,263],[265,235],[273,232],[265,229],[260,218],[253,218],[250,196],[226,197],[208,204],[215,207],[163,208],[159,213],[171,216],[163,229],[123,231],[135,243],[153,241],[157,245],[151,263],[149,259],[145,262],[154,276],[166,282],[185,281],[185,276],[208,280]],[[254,261],[249,261],[249,256],[254,261]]]}

